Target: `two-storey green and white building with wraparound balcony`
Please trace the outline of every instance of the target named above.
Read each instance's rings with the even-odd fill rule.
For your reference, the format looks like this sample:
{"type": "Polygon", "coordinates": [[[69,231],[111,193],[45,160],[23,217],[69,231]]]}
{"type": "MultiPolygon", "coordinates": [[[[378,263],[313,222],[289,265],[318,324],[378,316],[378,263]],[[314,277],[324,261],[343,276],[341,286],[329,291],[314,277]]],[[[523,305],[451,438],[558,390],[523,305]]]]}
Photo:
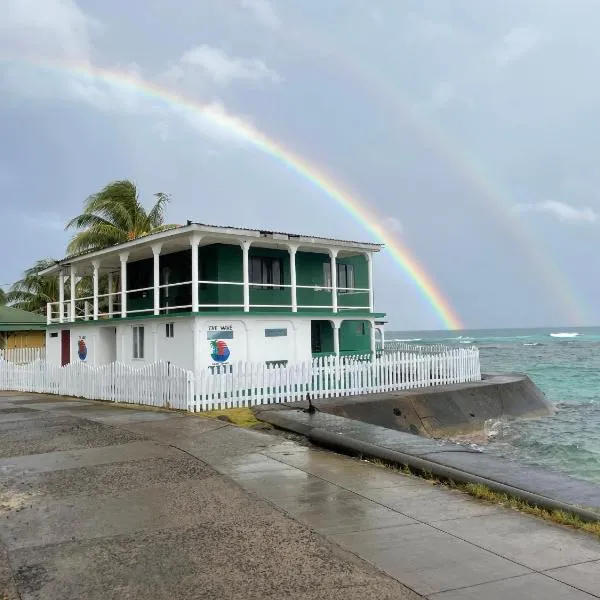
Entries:
{"type": "Polygon", "coordinates": [[[189,223],[67,257],[47,307],[47,361],[170,361],[201,372],[375,352],[381,245],[189,223]],[[93,293],[78,294],[90,277],[93,293]],[[70,279],[69,297],[65,283],[70,279]],[[79,286],[82,287],[82,286],[79,286]]]}

